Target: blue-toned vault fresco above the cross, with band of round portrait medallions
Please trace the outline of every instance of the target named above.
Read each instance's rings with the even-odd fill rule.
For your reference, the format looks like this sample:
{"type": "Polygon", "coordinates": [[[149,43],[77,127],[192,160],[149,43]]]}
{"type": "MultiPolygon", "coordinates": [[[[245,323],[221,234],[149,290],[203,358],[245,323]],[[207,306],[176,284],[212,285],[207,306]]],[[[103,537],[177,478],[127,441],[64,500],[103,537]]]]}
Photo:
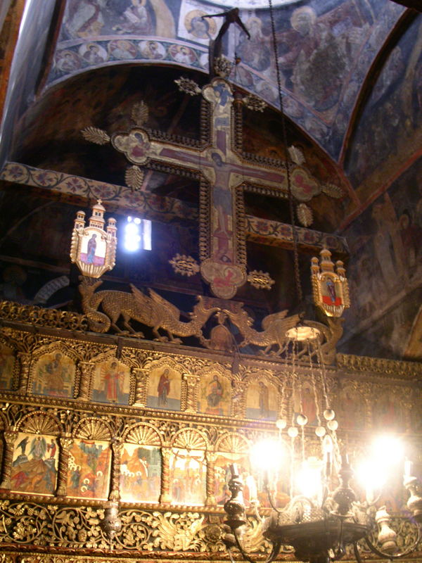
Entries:
{"type": "MultiPolygon", "coordinates": [[[[207,72],[208,44],[222,9],[198,0],[68,0],[48,82],[100,65],[165,61],[207,72]]],[[[317,2],[276,8],[286,113],[338,156],[350,110],[371,62],[399,15],[388,0],[317,2]]],[[[229,27],[223,52],[241,57],[231,80],[278,106],[267,10],[244,10],[250,40],[229,27]]]]}

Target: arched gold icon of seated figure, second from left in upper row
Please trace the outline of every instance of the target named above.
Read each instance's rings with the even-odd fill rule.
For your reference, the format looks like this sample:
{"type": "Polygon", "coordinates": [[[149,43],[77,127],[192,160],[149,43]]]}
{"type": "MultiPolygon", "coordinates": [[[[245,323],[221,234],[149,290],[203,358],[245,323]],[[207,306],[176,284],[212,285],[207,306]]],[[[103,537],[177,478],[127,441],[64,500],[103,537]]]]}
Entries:
{"type": "Polygon", "coordinates": [[[72,397],[75,362],[55,350],[39,358],[33,368],[32,392],[51,397],[72,397]]]}

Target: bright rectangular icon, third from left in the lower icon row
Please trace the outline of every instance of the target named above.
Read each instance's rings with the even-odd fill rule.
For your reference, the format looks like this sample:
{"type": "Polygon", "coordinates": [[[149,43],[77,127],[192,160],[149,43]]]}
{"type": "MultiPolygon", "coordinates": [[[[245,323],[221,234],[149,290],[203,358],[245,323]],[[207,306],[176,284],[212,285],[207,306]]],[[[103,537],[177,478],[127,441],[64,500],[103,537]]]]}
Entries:
{"type": "Polygon", "coordinates": [[[161,453],[155,446],[124,444],[120,462],[120,498],[124,502],[158,502],[161,453]]]}

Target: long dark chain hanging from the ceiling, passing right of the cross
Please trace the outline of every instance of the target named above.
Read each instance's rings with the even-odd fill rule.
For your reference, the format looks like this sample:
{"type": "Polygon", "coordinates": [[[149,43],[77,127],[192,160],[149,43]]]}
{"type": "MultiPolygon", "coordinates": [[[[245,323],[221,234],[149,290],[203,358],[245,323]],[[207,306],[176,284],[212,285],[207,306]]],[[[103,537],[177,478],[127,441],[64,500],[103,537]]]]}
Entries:
{"type": "Polygon", "coordinates": [[[298,254],[298,232],[295,227],[295,210],[293,208],[293,194],[291,188],[290,179],[290,162],[288,158],[288,147],[287,147],[287,132],[286,132],[286,118],[284,115],[283,108],[283,94],[281,94],[281,80],[280,80],[280,68],[279,68],[279,50],[277,49],[276,42],[276,25],[274,23],[274,11],[272,6],[272,0],[269,2],[269,15],[271,18],[271,32],[272,32],[272,42],[274,49],[274,59],[276,63],[276,77],[277,77],[277,88],[279,90],[279,101],[280,101],[280,111],[281,111],[281,134],[283,136],[283,144],[285,150],[284,163],[286,166],[286,179],[287,179],[287,191],[288,191],[288,204],[290,209],[290,222],[292,225],[292,235],[293,235],[293,265],[295,270],[295,286],[296,293],[298,295],[299,302],[302,301],[302,284],[300,283],[300,272],[299,272],[299,254],[298,254]]]}

